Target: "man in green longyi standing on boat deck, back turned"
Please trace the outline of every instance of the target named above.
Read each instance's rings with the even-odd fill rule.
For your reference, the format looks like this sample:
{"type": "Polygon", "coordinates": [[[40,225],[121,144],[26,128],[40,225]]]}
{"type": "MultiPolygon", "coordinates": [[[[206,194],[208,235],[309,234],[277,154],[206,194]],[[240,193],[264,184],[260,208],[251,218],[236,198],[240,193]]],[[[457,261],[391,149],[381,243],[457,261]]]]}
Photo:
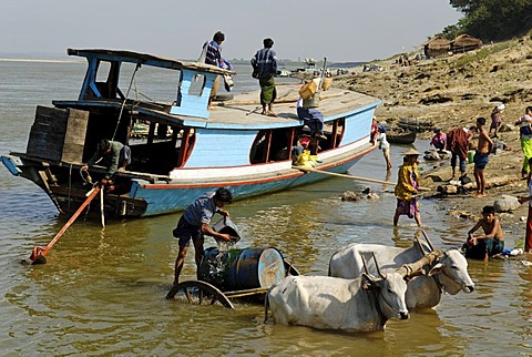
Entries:
{"type": "Polygon", "coordinates": [[[277,96],[277,90],[275,88],[275,74],[277,73],[277,57],[272,47],[274,40],[264,39],[264,48],[255,53],[252,59],[252,67],[254,75],[258,79],[260,85],[260,104],[263,105],[263,112],[260,114],[267,116],[277,116],[274,112],[274,101],[277,96]]]}

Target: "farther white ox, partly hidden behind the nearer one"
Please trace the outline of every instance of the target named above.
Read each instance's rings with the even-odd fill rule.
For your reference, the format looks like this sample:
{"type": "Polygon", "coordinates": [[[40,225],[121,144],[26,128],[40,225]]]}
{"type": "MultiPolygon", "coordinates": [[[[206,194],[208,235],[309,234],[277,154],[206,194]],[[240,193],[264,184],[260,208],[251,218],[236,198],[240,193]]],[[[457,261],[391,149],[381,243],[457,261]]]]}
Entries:
{"type": "MultiPolygon", "coordinates": [[[[397,268],[423,256],[417,242],[410,248],[354,243],[331,256],[329,275],[348,279],[359,276],[365,272],[361,256],[368,257],[372,253],[381,268],[397,268]]],[[[371,262],[368,266],[371,272],[371,262]]],[[[428,276],[417,276],[408,283],[406,302],[408,308],[433,307],[440,303],[442,292],[456,295],[460,290],[471,293],[473,289],[468,261],[458,249],[449,249],[443,252],[428,276]]]]}

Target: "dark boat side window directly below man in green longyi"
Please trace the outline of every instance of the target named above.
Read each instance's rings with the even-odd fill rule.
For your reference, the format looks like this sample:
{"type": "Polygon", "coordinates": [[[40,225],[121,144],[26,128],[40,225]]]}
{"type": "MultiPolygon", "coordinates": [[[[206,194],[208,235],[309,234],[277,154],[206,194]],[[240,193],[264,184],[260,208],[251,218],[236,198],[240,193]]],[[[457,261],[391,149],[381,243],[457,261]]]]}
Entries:
{"type": "Polygon", "coordinates": [[[252,145],[249,162],[260,164],[290,159],[294,129],[262,130],[252,145]]]}

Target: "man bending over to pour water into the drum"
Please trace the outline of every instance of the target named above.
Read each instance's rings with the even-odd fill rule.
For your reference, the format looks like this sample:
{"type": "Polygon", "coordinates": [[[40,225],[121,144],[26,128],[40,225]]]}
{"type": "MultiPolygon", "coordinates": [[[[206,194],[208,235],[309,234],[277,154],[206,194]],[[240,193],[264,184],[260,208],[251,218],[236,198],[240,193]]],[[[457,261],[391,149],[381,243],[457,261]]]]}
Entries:
{"type": "MultiPolygon", "coordinates": [[[[222,210],[226,203],[233,201],[233,195],[227,188],[218,188],[216,192],[207,193],[188,205],[183,212],[183,215],[177,223],[177,227],[174,230],[174,237],[180,239],[180,253],[175,259],[175,278],[174,286],[180,282],[181,269],[185,261],[188,246],[194,244],[196,267],[200,266],[204,254],[203,243],[204,235],[211,235],[217,241],[229,242],[231,236],[228,234],[215,232],[209,223],[215,213],[219,213],[223,216],[228,217],[229,213],[222,210]]],[[[172,293],[172,290],[171,290],[172,293]]],[[[173,295],[166,296],[172,298],[173,295]]]]}

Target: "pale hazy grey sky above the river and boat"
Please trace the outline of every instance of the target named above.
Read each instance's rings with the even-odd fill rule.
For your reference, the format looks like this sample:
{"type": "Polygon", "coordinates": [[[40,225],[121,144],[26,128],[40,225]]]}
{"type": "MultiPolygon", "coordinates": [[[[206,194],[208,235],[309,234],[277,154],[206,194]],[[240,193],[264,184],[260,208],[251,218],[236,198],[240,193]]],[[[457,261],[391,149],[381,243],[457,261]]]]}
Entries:
{"type": "Polygon", "coordinates": [[[1,0],[1,53],[105,48],[196,59],[222,30],[227,59],[274,39],[278,58],[366,61],[412,51],[456,23],[448,0],[1,0]]]}

